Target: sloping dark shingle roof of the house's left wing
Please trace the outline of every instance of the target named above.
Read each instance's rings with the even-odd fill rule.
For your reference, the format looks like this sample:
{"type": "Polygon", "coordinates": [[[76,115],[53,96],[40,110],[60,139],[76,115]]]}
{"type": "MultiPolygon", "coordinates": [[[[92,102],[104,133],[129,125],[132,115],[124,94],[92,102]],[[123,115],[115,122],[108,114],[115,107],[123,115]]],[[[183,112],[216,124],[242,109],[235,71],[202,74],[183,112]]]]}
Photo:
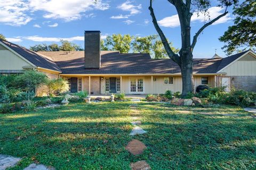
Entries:
{"type": "Polygon", "coordinates": [[[5,41],[3,39],[0,39],[0,41],[38,67],[43,67],[45,69],[50,69],[54,71],[61,71],[51,57],[40,55],[36,52],[33,52],[32,50],[21,47],[17,44],[10,43],[9,41],[5,41]]]}

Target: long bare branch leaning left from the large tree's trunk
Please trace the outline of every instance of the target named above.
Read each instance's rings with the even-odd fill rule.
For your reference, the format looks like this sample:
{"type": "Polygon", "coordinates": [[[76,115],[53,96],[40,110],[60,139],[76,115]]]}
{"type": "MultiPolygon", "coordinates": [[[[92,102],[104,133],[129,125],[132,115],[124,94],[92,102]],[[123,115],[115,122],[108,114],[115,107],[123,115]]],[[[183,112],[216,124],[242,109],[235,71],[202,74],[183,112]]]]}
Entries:
{"type": "MultiPolygon", "coordinates": [[[[169,0],[169,1],[171,1],[171,0],[169,0]]],[[[165,37],[163,31],[161,30],[161,28],[159,27],[159,25],[158,25],[158,23],[157,23],[156,16],[155,16],[155,13],[154,13],[154,10],[153,10],[153,7],[152,7],[152,0],[150,0],[149,11],[150,11],[150,15],[151,15],[151,17],[152,17],[152,22],[153,22],[153,24],[154,24],[154,26],[155,26],[156,31],[158,32],[159,37],[160,37],[161,40],[162,40],[162,43],[163,43],[163,45],[164,45],[164,48],[165,48],[165,50],[166,50],[168,56],[169,56],[175,63],[177,63],[177,64],[180,65],[180,64],[181,64],[181,61],[180,61],[179,55],[178,55],[178,54],[175,54],[175,53],[172,51],[172,49],[171,49],[171,47],[170,47],[170,45],[169,45],[169,43],[168,43],[167,38],[165,37]]]]}

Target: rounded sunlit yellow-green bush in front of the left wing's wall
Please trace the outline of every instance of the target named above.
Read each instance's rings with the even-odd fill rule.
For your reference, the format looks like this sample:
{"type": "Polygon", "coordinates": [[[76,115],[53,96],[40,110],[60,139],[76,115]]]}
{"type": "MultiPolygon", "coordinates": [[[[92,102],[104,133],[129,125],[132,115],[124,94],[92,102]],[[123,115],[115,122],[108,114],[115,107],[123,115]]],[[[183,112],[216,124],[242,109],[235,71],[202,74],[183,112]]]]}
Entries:
{"type": "Polygon", "coordinates": [[[69,90],[68,82],[62,78],[49,80],[47,85],[49,87],[49,94],[53,92],[62,93],[69,90]]]}

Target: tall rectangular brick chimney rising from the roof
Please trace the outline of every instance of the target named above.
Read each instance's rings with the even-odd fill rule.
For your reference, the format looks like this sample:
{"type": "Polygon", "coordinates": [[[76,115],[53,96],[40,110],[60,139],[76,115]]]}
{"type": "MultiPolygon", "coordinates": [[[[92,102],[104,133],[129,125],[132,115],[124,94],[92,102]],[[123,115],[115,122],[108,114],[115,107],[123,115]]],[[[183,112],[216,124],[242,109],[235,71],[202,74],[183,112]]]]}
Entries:
{"type": "Polygon", "coordinates": [[[100,69],[100,31],[84,31],[84,67],[100,69]]]}

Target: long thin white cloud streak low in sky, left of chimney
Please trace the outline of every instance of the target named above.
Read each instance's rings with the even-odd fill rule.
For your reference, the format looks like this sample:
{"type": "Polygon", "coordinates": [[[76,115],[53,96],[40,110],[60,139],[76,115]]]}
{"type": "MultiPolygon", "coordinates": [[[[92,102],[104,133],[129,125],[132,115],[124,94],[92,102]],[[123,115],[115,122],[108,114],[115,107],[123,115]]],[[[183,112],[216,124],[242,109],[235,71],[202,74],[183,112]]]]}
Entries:
{"type": "Polygon", "coordinates": [[[61,39],[68,40],[68,41],[83,41],[83,36],[77,36],[77,37],[70,37],[70,38],[57,38],[57,37],[39,37],[39,36],[28,36],[28,37],[22,37],[26,40],[36,41],[36,42],[59,42],[61,39]]]}

